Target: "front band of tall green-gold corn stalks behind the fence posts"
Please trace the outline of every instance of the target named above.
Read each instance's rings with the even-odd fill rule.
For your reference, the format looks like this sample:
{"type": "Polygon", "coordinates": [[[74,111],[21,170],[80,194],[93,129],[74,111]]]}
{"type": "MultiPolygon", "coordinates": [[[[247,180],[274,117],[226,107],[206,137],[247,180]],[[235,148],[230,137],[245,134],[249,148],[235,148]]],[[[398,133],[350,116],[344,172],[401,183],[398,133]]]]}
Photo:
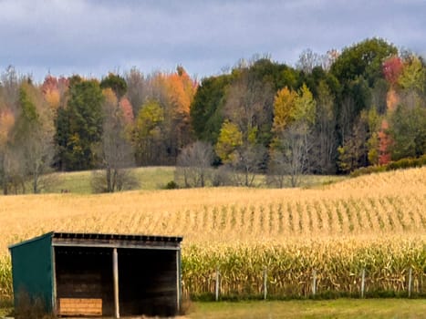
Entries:
{"type": "Polygon", "coordinates": [[[307,297],[313,273],[318,293],[357,294],[361,272],[366,293],[404,293],[412,270],[412,292],[426,293],[426,242],[321,241],[191,245],[183,250],[183,286],[192,296],[214,293],[216,271],[222,296],[260,295],[267,269],[271,296],[307,297]]]}

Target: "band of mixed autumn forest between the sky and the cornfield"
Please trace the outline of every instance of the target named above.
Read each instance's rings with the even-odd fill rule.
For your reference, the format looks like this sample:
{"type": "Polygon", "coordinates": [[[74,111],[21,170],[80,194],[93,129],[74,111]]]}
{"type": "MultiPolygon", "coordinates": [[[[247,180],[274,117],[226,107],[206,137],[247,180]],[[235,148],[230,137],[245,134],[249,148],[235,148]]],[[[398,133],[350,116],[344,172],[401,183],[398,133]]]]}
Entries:
{"type": "Polygon", "coordinates": [[[137,187],[131,168],[176,166],[173,187],[296,187],[426,153],[426,64],[381,38],[268,56],[197,79],[184,67],[43,83],[0,74],[0,187],[42,192],[50,172],[93,170],[93,190],[137,187]]]}

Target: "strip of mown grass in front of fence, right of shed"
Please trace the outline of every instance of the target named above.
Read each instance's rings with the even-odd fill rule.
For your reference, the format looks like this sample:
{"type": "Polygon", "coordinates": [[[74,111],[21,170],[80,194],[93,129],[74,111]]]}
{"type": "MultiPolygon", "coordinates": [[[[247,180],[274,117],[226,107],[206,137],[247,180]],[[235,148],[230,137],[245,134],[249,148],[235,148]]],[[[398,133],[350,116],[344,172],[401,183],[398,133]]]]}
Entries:
{"type": "Polygon", "coordinates": [[[194,303],[191,319],[424,318],[426,300],[338,299],[241,303],[194,303]]]}

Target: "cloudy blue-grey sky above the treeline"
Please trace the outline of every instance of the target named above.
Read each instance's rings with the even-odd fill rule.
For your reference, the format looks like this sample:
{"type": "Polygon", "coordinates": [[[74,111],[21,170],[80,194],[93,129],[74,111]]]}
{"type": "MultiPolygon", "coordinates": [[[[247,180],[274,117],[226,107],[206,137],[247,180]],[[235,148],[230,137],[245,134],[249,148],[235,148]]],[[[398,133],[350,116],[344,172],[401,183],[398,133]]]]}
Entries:
{"type": "Polygon", "coordinates": [[[380,37],[426,57],[426,0],[0,0],[0,71],[103,77],[178,65],[192,77],[267,55],[295,66],[380,37]]]}

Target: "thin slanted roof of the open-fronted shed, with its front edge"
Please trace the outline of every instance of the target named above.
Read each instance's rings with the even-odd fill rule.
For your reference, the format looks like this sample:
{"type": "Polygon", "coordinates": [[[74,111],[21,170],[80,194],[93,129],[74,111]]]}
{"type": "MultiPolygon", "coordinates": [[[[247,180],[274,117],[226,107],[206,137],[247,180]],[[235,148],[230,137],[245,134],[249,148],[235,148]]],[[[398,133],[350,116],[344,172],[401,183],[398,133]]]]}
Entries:
{"type": "Polygon", "coordinates": [[[19,242],[9,246],[14,249],[34,242],[38,239],[50,236],[52,246],[69,247],[105,247],[105,248],[138,248],[138,249],[166,249],[178,250],[182,237],[142,235],[142,234],[118,234],[118,233],[96,233],[96,232],[47,232],[42,236],[19,242]]]}

